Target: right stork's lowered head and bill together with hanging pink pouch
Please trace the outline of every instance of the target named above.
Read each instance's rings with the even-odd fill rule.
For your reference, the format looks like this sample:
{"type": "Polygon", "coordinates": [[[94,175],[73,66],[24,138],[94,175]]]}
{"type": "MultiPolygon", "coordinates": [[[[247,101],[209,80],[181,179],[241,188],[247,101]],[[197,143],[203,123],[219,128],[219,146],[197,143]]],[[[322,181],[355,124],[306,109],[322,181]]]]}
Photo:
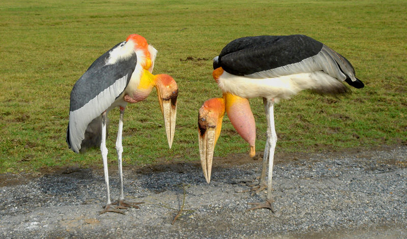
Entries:
{"type": "Polygon", "coordinates": [[[223,98],[212,98],[206,101],[199,109],[198,140],[203,175],[208,183],[211,181],[213,153],[225,111],[239,135],[249,143],[250,157],[255,155],[256,127],[249,101],[229,93],[223,94],[223,98]]]}

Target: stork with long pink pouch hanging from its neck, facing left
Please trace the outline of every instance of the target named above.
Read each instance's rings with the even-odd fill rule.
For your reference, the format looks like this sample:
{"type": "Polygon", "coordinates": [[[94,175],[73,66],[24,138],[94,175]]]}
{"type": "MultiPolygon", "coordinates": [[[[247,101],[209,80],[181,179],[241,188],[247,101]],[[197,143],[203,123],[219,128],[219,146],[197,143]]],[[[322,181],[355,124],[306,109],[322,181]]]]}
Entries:
{"type": "Polygon", "coordinates": [[[203,174],[211,180],[212,158],[226,110],[231,124],[250,145],[255,155],[256,129],[248,98],[262,97],[268,123],[263,168],[258,185],[251,191],[268,188],[265,202],[249,203],[257,208],[272,206],[272,172],[277,135],[274,127],[274,104],[304,89],[320,94],[350,93],[342,82],[356,88],[364,84],[345,57],[328,46],[304,35],[257,36],[239,38],[228,43],[214,58],[213,77],[223,91],[222,98],[206,101],[199,109],[199,153],[203,174]],[[269,162],[268,182],[265,174],[269,162]]]}

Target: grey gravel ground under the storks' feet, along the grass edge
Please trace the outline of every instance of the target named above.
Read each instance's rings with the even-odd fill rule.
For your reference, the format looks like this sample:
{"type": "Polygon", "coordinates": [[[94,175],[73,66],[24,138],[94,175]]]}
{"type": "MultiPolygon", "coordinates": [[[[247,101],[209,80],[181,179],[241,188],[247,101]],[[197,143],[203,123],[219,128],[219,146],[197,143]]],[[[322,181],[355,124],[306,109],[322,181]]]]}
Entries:
{"type": "MultiPolygon", "coordinates": [[[[198,162],[126,168],[125,196],[144,201],[126,215],[99,215],[100,170],[71,168],[28,178],[1,175],[2,238],[407,238],[407,147],[300,155],[277,162],[273,214],[245,212],[242,185],[261,162],[217,164],[207,184],[198,162]],[[5,185],[5,186],[4,186],[5,185]],[[175,221],[183,204],[184,212],[175,221]]],[[[118,175],[110,172],[112,199],[118,175]]]]}

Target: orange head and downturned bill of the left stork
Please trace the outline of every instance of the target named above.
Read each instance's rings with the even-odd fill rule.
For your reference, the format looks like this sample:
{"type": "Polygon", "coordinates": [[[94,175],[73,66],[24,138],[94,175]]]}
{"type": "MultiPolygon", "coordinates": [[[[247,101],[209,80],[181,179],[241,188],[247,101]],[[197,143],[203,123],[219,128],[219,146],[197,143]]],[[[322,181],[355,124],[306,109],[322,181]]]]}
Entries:
{"type": "Polygon", "coordinates": [[[171,148],[175,133],[177,118],[178,86],[175,80],[166,74],[155,75],[158,101],[164,116],[165,132],[167,133],[168,146],[171,148]]]}

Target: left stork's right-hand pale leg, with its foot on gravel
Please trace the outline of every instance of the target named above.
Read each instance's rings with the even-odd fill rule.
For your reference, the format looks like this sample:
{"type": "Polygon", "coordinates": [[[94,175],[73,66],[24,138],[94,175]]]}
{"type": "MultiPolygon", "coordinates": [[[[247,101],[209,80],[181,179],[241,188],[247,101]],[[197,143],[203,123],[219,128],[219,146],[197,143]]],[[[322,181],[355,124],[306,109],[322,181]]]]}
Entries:
{"type": "Polygon", "coordinates": [[[117,201],[118,207],[120,209],[127,209],[129,207],[139,208],[137,204],[143,202],[126,202],[124,201],[123,193],[123,167],[122,167],[122,153],[123,153],[123,144],[122,144],[122,135],[123,135],[123,115],[125,107],[120,107],[120,119],[119,119],[119,131],[118,138],[116,140],[116,150],[118,152],[118,164],[119,164],[119,183],[120,183],[120,196],[117,201]]]}

